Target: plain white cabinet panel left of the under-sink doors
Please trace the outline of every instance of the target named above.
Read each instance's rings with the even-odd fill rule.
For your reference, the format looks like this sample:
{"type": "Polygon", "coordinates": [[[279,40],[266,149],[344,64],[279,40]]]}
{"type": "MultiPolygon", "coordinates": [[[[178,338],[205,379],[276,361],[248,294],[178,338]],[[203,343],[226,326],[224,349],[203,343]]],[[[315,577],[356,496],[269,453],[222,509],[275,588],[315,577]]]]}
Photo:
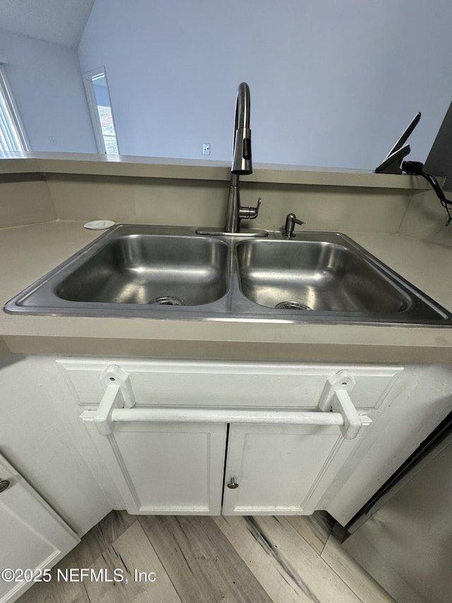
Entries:
{"type": "Polygon", "coordinates": [[[85,462],[93,445],[56,369],[55,356],[0,358],[0,452],[82,536],[113,507],[85,462]]]}

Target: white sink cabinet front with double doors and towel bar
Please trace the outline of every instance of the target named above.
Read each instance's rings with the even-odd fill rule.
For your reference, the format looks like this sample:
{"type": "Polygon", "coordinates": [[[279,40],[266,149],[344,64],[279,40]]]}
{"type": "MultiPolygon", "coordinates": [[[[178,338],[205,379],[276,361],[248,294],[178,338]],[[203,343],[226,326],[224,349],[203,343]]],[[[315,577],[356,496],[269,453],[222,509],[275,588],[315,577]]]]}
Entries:
{"type": "Polygon", "coordinates": [[[129,513],[151,514],[322,508],[403,371],[126,358],[57,362],[107,469],[105,488],[114,484],[129,513]]]}

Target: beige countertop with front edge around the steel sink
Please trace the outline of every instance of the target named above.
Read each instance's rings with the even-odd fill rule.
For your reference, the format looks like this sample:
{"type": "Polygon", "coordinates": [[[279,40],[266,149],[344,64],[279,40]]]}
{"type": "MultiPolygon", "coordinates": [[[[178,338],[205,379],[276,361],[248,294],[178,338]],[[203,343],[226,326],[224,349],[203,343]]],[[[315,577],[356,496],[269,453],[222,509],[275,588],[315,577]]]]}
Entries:
{"type": "MultiPolygon", "coordinates": [[[[100,233],[54,221],[0,229],[0,302],[57,266],[100,233]]],[[[452,248],[394,234],[347,233],[452,311],[445,267],[452,248]]],[[[263,322],[8,315],[0,335],[13,352],[240,358],[277,361],[452,361],[452,329],[263,322]]]]}

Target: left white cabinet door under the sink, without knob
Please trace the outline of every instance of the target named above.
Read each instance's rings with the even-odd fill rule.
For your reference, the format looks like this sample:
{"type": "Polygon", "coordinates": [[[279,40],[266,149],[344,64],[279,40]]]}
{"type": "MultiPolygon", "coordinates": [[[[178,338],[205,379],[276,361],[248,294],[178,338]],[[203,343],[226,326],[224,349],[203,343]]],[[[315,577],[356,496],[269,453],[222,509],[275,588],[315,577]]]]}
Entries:
{"type": "Polygon", "coordinates": [[[225,425],[133,421],[100,435],[83,421],[129,513],[220,514],[225,425]]]}

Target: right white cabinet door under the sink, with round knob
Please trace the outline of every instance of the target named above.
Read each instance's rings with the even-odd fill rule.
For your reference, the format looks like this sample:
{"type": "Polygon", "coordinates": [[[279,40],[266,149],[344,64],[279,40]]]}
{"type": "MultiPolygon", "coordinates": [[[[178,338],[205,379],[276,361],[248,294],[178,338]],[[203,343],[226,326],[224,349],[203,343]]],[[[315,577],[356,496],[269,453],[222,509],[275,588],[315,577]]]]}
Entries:
{"type": "Polygon", "coordinates": [[[230,426],[223,514],[312,513],[334,457],[354,446],[334,426],[230,426]]]}

